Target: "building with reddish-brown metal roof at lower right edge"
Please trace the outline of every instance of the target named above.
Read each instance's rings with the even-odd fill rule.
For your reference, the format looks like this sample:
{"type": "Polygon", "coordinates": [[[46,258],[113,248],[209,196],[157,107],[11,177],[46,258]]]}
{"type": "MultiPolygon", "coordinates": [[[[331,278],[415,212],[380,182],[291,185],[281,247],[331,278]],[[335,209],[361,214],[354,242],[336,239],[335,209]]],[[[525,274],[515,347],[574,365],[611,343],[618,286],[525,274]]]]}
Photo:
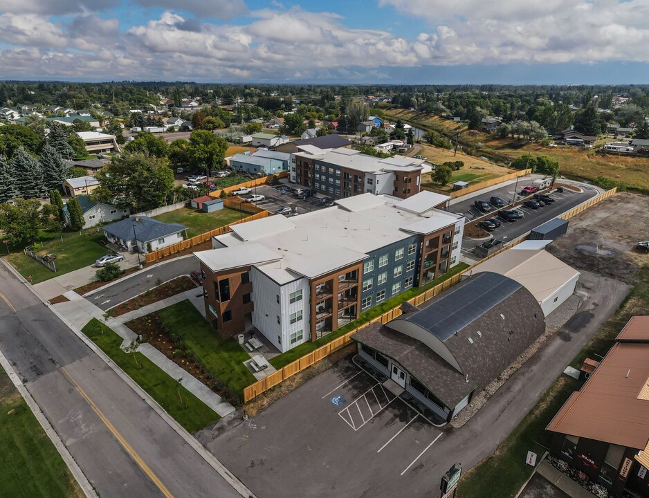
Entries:
{"type": "Polygon", "coordinates": [[[549,452],[608,496],[649,496],[649,316],[636,316],[547,426],[549,452]]]}

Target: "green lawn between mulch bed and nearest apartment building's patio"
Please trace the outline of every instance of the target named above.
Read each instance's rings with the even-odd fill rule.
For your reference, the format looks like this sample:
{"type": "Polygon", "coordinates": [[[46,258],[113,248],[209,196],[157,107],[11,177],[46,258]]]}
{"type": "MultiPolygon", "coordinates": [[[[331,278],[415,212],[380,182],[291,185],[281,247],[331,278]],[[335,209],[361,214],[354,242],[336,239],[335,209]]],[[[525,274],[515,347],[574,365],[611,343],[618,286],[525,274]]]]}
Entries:
{"type": "Polygon", "coordinates": [[[189,301],[163,308],[160,317],[170,333],[179,335],[215,378],[226,383],[235,394],[243,395],[244,387],[256,382],[244,361],[250,356],[235,338],[221,340],[217,332],[189,301]]]}

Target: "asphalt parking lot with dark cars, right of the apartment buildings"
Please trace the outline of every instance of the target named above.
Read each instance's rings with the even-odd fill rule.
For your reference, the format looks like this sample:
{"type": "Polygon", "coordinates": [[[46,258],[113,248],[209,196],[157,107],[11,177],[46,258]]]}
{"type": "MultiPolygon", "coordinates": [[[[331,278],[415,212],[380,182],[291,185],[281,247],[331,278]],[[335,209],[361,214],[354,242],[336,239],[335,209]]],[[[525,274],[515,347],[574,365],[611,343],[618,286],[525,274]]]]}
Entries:
{"type": "MultiPolygon", "coordinates": [[[[538,227],[538,225],[541,225],[546,221],[556,218],[556,216],[559,216],[560,214],[572,210],[572,208],[574,208],[576,205],[579,205],[584,201],[587,201],[591,197],[599,194],[599,191],[593,187],[589,187],[587,185],[580,186],[583,189],[583,192],[574,192],[568,189],[565,189],[563,193],[552,192],[550,196],[555,200],[555,202],[550,205],[542,206],[536,210],[527,208],[524,205],[518,206],[517,209],[522,210],[524,214],[521,219],[518,219],[516,221],[506,221],[498,217],[498,221],[500,221],[501,223],[500,227],[495,228],[495,230],[492,230],[489,233],[493,236],[494,239],[504,242],[511,241],[513,239],[516,239],[517,237],[520,237],[522,234],[533,230],[534,228],[538,227]]],[[[509,185],[507,187],[502,187],[502,189],[489,192],[488,194],[483,194],[482,196],[463,201],[463,203],[461,204],[458,203],[456,205],[453,205],[450,207],[450,210],[459,212],[459,210],[456,210],[456,208],[466,208],[462,212],[462,214],[466,216],[467,221],[470,221],[484,215],[484,213],[480,212],[473,206],[473,202],[476,199],[484,199],[485,201],[488,201],[489,197],[491,196],[500,196],[501,199],[508,202],[512,198],[512,195],[513,185],[509,185]]],[[[497,216],[497,210],[495,208],[493,211],[493,216],[497,216]]],[[[482,242],[483,241],[465,238],[462,242],[462,254],[467,257],[473,257],[475,246],[479,246],[482,242]]]]}

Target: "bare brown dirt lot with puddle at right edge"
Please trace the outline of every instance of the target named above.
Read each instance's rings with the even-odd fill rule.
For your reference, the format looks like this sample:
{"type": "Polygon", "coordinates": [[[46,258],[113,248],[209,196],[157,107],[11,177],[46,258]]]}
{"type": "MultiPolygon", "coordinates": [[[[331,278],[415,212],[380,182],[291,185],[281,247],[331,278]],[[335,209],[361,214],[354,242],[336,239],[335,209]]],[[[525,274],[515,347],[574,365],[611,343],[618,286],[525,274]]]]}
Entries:
{"type": "Polygon", "coordinates": [[[578,270],[633,283],[649,256],[634,250],[649,239],[646,196],[622,192],[569,220],[568,232],[549,252],[578,270]]]}

